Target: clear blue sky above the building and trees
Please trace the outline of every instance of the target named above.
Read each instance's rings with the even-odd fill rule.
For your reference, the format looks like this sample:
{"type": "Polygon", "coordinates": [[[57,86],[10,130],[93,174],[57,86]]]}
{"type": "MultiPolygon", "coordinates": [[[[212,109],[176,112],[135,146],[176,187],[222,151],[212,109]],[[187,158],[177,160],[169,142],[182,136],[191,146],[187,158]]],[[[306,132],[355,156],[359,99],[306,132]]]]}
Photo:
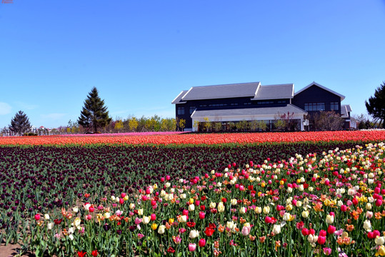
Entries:
{"type": "Polygon", "coordinates": [[[384,0],[12,2],[0,3],[0,127],[19,110],[34,126],[76,121],[93,86],[114,119],[174,117],[181,90],[254,81],[316,81],[366,114],[385,81],[384,0]]]}

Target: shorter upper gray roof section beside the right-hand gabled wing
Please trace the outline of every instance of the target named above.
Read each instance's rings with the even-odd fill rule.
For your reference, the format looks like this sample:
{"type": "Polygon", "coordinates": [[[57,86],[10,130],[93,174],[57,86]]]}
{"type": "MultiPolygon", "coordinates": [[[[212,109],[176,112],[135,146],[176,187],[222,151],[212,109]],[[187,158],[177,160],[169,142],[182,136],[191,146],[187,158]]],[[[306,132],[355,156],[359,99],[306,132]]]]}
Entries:
{"type": "Polygon", "coordinates": [[[292,99],[294,96],[294,84],[259,86],[256,96],[251,100],[263,99],[292,99]]]}

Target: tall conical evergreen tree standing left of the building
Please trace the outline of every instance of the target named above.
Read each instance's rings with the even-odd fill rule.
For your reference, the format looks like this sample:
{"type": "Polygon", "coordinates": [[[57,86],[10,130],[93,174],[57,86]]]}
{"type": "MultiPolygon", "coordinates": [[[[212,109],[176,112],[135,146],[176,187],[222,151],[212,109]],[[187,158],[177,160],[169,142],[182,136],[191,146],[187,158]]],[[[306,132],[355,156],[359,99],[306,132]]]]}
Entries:
{"type": "Polygon", "coordinates": [[[84,101],[78,123],[84,128],[94,128],[96,133],[98,128],[104,128],[110,122],[111,118],[107,107],[104,106],[104,100],[100,99],[98,90],[94,87],[84,101]]]}

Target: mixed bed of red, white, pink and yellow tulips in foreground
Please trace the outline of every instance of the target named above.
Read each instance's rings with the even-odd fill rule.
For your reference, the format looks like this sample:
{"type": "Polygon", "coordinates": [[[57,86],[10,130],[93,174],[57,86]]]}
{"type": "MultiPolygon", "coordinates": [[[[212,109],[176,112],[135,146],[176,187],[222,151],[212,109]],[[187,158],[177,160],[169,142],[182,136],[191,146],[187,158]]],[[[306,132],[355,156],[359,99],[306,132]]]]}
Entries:
{"type": "Polygon", "coordinates": [[[59,210],[39,209],[38,193],[37,208],[21,218],[16,207],[1,232],[17,231],[21,218],[31,234],[14,235],[36,256],[385,256],[384,150],[335,148],[184,178],[165,172],[139,190],[97,196],[85,186],[59,210]]]}

